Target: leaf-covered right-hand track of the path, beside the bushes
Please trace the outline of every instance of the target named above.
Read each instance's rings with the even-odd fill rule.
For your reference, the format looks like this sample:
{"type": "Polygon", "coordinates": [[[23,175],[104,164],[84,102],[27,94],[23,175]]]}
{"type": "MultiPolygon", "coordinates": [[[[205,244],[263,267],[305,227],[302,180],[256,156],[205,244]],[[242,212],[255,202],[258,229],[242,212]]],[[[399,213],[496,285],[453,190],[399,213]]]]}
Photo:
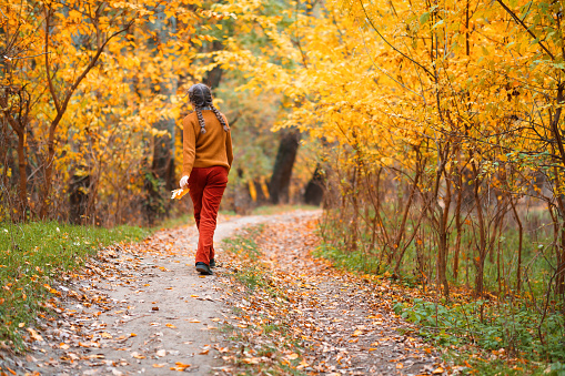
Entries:
{"type": "Polygon", "coordinates": [[[311,255],[315,228],[316,217],[303,213],[226,244],[238,323],[224,326],[232,352],[223,359],[252,375],[453,372],[393,313],[389,280],[311,255]]]}

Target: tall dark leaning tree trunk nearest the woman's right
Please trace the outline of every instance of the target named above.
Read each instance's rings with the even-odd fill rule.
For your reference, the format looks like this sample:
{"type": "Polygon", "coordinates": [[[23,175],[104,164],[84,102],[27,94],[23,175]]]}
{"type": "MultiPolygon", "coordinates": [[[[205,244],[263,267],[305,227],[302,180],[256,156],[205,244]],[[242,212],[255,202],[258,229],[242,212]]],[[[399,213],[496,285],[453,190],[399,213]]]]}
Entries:
{"type": "Polygon", "coordinates": [[[289,186],[292,167],[299,151],[301,134],[292,129],[281,134],[281,143],[274,161],[273,174],[269,183],[269,195],[273,204],[289,202],[289,186]]]}

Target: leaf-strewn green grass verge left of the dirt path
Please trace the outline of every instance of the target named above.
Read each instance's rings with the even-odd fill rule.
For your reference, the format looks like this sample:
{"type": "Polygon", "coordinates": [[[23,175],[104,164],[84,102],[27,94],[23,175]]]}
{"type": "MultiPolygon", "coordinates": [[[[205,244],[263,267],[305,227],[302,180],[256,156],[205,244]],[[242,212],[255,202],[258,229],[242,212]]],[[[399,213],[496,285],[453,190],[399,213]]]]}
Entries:
{"type": "Polygon", "coordinates": [[[48,314],[50,285],[77,271],[101,247],[138,241],[147,228],[114,228],[32,222],[0,224],[0,341],[23,350],[22,331],[48,314]],[[20,326],[23,328],[20,328],[20,326]]]}

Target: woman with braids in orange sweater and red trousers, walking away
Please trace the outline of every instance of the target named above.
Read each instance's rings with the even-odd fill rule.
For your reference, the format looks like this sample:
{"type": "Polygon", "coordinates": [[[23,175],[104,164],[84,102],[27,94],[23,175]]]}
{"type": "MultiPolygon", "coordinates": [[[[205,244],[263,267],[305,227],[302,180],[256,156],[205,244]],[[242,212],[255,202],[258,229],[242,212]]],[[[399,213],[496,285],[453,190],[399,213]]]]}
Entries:
{"type": "Polygon", "coordinates": [[[181,189],[189,189],[199,230],[196,271],[211,275],[215,267],[214,231],[218,210],[233,162],[232,138],[225,116],[212,103],[203,83],[189,89],[194,110],[183,121],[181,189]]]}

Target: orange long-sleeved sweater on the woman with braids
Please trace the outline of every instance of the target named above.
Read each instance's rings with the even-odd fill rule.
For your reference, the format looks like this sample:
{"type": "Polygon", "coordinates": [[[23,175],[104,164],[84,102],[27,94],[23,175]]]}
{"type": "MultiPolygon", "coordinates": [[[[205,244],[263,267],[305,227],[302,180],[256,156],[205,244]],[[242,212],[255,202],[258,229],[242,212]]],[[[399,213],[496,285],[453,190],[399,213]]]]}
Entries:
{"type": "MultiPolygon", "coordinates": [[[[222,114],[223,115],[223,114],[222,114]]],[[[182,121],[182,175],[190,176],[193,167],[225,166],[231,169],[233,161],[231,131],[225,132],[211,110],[202,110],[206,133],[200,132],[196,112],[182,121]]],[[[225,119],[228,124],[228,120],[225,119]]]]}

